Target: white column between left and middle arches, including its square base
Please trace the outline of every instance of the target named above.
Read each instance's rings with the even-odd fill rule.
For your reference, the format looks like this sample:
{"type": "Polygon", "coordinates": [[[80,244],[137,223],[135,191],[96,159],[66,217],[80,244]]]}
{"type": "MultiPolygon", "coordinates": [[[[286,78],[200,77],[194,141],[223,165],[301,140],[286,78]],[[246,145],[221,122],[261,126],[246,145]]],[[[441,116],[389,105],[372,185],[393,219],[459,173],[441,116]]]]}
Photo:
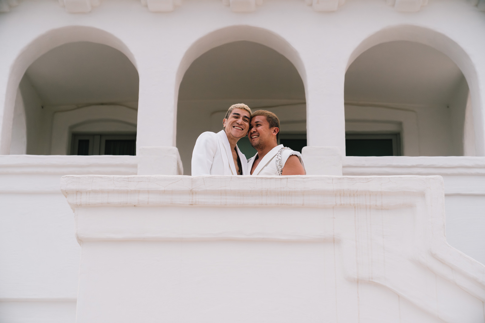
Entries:
{"type": "Polygon", "coordinates": [[[175,57],[161,57],[162,53],[147,48],[137,55],[140,77],[136,138],[139,175],[183,173],[175,147],[178,61],[175,57]]]}

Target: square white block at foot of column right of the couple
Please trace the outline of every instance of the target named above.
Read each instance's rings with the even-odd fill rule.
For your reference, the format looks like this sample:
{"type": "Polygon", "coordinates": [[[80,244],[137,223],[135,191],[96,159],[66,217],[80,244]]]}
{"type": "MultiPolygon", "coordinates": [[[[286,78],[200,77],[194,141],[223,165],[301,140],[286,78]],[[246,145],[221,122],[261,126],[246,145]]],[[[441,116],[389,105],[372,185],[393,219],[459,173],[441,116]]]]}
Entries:
{"type": "Polygon", "coordinates": [[[337,147],[303,147],[307,175],[342,175],[342,154],[337,147]]]}

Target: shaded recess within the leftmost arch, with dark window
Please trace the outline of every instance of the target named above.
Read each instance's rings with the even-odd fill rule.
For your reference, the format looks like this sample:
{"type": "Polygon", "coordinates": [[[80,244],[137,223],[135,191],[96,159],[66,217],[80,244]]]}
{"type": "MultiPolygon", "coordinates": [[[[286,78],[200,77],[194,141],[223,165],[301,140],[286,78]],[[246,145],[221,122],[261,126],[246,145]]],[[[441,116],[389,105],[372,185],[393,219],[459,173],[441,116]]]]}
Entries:
{"type": "Polygon", "coordinates": [[[19,82],[10,154],[135,154],[138,83],[112,46],[54,47],[19,82]]]}

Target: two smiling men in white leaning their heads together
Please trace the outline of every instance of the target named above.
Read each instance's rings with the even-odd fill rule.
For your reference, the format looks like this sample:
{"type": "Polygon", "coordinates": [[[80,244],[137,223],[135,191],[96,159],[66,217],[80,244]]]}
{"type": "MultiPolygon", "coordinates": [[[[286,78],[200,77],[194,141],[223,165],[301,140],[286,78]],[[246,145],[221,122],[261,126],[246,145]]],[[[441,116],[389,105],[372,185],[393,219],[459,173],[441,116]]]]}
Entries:
{"type": "Polygon", "coordinates": [[[231,106],[218,133],[202,133],[192,153],[192,175],[305,175],[299,152],[278,145],[279,119],[270,111],[254,113],[245,104],[231,106]],[[248,136],[258,152],[246,159],[237,146],[248,136]]]}

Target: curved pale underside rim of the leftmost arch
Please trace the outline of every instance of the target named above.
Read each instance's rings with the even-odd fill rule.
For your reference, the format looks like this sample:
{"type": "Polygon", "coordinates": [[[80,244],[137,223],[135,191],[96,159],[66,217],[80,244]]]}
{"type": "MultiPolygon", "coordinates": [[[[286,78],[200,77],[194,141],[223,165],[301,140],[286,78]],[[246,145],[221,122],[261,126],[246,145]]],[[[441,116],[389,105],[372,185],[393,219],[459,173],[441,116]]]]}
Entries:
{"type": "Polygon", "coordinates": [[[9,154],[16,89],[27,68],[55,47],[75,42],[92,42],[113,47],[123,53],[137,68],[135,57],[118,37],[108,31],[87,26],[66,26],[52,29],[26,45],[12,64],[7,81],[1,124],[0,154],[9,154]]]}

